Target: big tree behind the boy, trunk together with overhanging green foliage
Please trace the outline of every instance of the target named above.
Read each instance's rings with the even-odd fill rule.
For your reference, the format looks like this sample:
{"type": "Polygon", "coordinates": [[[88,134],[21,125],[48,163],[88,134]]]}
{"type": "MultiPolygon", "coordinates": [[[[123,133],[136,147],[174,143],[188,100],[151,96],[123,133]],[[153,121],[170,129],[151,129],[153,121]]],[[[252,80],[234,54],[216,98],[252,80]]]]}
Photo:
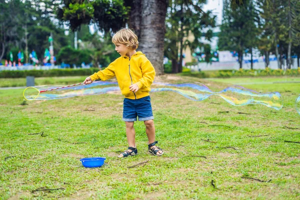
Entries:
{"type": "Polygon", "coordinates": [[[57,16],[69,21],[72,30],[78,29],[81,24],[95,22],[100,30],[113,33],[125,23],[129,23],[129,27],[137,30],[138,49],[147,55],[155,67],[156,74],[162,74],[166,7],[166,0],[135,0],[134,3],[129,0],[63,0],[57,16]],[[128,5],[131,5],[131,10],[128,5]],[[137,8],[140,9],[135,13],[137,8]],[[84,11],[87,12],[86,15],[84,11]],[[78,15],[79,20],[76,20],[73,13],[78,15]]]}

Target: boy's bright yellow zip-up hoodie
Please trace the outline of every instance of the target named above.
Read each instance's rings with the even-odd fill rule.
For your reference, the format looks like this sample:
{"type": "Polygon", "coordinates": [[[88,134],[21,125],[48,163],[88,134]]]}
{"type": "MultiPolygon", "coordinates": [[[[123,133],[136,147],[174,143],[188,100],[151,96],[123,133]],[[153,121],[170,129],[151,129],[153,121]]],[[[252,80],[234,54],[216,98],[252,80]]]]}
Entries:
{"type": "Polygon", "coordinates": [[[137,51],[130,58],[128,56],[116,58],[105,69],[89,77],[91,80],[107,80],[114,76],[125,98],[138,99],[149,95],[155,70],[145,54],[137,51]],[[134,83],[139,87],[136,93],[129,90],[129,86],[134,83]]]}

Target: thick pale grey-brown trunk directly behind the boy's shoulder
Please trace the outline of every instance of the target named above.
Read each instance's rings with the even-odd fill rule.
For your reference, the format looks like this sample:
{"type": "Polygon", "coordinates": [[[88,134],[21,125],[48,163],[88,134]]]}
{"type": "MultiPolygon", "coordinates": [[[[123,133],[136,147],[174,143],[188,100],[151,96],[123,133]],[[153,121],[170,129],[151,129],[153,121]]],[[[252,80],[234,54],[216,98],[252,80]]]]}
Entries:
{"type": "Polygon", "coordinates": [[[163,74],[166,0],[141,0],[139,50],[150,60],[156,75],[163,74]]]}

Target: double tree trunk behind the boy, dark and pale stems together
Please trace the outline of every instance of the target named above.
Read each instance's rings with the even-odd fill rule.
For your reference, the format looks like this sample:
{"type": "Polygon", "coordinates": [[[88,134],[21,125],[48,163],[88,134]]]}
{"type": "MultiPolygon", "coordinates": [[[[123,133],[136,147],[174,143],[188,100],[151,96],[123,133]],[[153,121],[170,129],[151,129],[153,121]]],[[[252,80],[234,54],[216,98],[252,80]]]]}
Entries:
{"type": "Polygon", "coordinates": [[[146,54],[156,74],[163,74],[164,20],[168,0],[125,0],[130,6],[129,27],[138,36],[138,49],[146,54]]]}

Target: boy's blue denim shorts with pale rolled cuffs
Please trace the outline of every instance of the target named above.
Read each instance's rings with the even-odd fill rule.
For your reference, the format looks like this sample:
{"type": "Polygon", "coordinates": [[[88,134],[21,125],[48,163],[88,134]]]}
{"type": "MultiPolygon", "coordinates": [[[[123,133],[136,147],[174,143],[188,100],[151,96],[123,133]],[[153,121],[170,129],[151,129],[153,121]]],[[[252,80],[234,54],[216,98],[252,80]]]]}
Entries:
{"type": "Polygon", "coordinates": [[[139,99],[124,98],[123,102],[123,121],[136,121],[138,116],[139,121],[153,119],[150,96],[145,96],[139,99]]]}

